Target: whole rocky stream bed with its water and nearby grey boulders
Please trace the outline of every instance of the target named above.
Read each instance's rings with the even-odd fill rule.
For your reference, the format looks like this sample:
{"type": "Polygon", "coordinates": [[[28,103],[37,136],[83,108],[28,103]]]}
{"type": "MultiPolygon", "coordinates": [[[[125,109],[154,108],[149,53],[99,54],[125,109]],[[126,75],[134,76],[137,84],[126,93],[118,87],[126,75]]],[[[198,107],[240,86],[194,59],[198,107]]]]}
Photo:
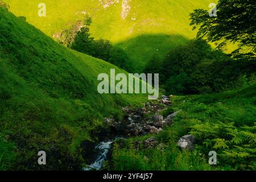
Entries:
{"type": "MultiPolygon", "coordinates": [[[[109,133],[105,133],[105,138],[102,138],[102,141],[98,144],[90,141],[82,143],[84,156],[90,162],[90,165],[83,168],[83,170],[100,170],[104,161],[111,158],[109,151],[115,139],[158,134],[164,127],[171,125],[176,114],[181,110],[168,115],[166,118],[159,114],[160,111],[171,105],[171,97],[162,96],[162,100],[158,100],[156,103],[147,102],[144,107],[138,109],[123,107],[122,110],[125,113],[123,121],[113,117],[105,118],[104,124],[108,125],[111,130],[109,133]],[[153,116],[147,117],[147,115],[153,116]]],[[[141,141],[135,142],[135,144],[139,143],[141,141]]],[[[143,143],[145,147],[156,147],[158,145],[155,137],[148,138],[143,143]]],[[[195,137],[193,135],[185,135],[179,139],[177,145],[183,150],[193,150],[193,143],[195,143],[195,137]]]]}

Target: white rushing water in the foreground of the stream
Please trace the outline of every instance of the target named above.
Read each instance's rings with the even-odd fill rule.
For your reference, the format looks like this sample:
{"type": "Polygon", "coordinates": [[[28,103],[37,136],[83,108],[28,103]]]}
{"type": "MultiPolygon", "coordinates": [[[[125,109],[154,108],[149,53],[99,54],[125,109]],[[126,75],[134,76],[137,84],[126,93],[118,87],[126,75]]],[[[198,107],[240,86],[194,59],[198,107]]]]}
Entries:
{"type": "Polygon", "coordinates": [[[90,171],[92,169],[100,170],[102,168],[103,162],[107,158],[107,154],[111,148],[113,140],[108,142],[101,142],[96,146],[96,150],[100,151],[94,163],[90,164],[88,167],[83,168],[84,171],[90,171]]]}

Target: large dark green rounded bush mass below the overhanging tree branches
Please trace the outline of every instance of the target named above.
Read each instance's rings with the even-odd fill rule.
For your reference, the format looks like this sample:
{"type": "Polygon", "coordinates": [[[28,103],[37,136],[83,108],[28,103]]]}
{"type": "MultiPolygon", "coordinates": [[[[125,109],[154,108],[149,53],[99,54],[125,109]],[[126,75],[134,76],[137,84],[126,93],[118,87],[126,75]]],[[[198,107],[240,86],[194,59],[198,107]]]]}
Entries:
{"type": "Polygon", "coordinates": [[[162,78],[168,94],[221,92],[241,86],[241,63],[214,51],[202,39],[172,49],[163,63],[162,78]]]}

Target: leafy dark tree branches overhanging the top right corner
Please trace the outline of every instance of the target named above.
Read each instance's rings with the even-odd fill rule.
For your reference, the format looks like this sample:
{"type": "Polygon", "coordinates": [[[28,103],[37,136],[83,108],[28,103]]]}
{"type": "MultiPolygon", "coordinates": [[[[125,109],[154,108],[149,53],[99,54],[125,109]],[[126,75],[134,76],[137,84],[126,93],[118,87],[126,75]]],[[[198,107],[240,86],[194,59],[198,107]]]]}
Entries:
{"type": "Polygon", "coordinates": [[[217,16],[207,10],[194,10],[191,16],[193,30],[199,27],[197,37],[216,43],[217,49],[229,43],[238,44],[232,52],[236,59],[256,58],[256,3],[255,0],[219,0],[217,16]]]}

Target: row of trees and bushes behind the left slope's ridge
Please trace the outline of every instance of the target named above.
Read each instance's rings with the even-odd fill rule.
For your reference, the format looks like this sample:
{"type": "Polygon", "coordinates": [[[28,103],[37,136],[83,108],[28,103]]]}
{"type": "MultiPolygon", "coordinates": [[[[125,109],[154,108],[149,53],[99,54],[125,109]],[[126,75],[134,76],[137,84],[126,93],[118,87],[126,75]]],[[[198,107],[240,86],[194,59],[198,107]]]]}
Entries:
{"type": "Polygon", "coordinates": [[[83,21],[78,20],[73,26],[57,34],[57,39],[61,44],[64,44],[64,46],[108,61],[109,63],[117,65],[119,68],[130,71],[129,57],[125,51],[119,47],[113,46],[109,40],[95,40],[89,32],[91,23],[92,18],[86,15],[83,21]]]}

